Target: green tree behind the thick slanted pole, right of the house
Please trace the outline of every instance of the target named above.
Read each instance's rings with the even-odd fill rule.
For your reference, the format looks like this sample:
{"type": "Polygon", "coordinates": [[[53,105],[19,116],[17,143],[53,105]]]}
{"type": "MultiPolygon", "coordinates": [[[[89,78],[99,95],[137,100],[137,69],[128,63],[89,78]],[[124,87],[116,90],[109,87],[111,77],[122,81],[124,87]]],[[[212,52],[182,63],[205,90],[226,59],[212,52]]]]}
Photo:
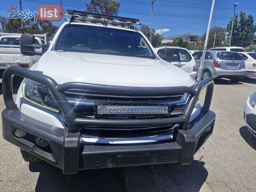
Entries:
{"type": "MultiPolygon", "coordinates": [[[[209,32],[207,48],[208,49],[213,48],[215,32],[216,32],[216,38],[215,38],[214,47],[222,45],[225,40],[225,31],[226,29],[223,27],[219,27],[219,26],[212,27],[209,32]]],[[[201,39],[203,44],[205,42],[205,38],[206,38],[206,32],[203,34],[201,39]]]]}

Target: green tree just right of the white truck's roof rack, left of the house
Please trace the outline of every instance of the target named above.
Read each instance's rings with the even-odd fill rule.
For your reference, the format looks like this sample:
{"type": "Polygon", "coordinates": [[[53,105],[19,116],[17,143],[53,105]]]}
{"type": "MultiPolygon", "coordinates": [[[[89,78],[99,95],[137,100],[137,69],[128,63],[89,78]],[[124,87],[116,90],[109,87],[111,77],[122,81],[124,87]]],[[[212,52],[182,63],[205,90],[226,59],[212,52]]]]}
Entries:
{"type": "MultiPolygon", "coordinates": [[[[147,25],[142,24],[140,31],[146,36],[146,38],[150,39],[150,28],[147,25]]],[[[151,44],[153,47],[158,47],[162,42],[163,36],[155,33],[156,30],[152,29],[151,44]]]]}

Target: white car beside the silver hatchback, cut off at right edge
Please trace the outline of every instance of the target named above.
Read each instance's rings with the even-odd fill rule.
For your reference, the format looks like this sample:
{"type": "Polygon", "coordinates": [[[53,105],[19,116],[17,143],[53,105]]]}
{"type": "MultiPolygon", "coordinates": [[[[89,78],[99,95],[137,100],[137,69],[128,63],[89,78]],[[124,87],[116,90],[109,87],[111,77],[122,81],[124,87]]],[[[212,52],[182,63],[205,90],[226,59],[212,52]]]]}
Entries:
{"type": "Polygon", "coordinates": [[[245,61],[246,77],[256,77],[256,52],[239,52],[245,61]]]}

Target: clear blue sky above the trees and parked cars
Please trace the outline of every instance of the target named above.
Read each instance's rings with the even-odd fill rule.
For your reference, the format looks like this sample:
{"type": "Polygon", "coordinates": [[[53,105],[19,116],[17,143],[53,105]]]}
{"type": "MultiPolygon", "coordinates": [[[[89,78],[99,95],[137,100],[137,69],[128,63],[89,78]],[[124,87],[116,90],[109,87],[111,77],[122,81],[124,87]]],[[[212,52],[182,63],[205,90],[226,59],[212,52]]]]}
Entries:
{"type": "MultiPolygon", "coordinates": [[[[62,0],[62,7],[86,10],[85,2],[90,0],[62,0]]],[[[118,0],[121,3],[118,16],[138,18],[150,26],[151,0],[118,0]]],[[[239,2],[236,13],[241,10],[252,14],[256,23],[256,0],[215,0],[211,26],[226,27],[234,13],[234,3],[239,2]]],[[[23,0],[22,10],[37,11],[38,5],[60,4],[60,0],[23,0]]],[[[17,6],[18,0],[1,0],[0,15],[8,17],[6,8],[17,6]]],[[[164,37],[176,34],[194,33],[202,36],[207,30],[212,0],[156,0],[153,4],[153,28],[164,37]]],[[[60,26],[61,21],[54,21],[60,26]]],[[[139,26],[138,26],[139,27],[139,26]]]]}

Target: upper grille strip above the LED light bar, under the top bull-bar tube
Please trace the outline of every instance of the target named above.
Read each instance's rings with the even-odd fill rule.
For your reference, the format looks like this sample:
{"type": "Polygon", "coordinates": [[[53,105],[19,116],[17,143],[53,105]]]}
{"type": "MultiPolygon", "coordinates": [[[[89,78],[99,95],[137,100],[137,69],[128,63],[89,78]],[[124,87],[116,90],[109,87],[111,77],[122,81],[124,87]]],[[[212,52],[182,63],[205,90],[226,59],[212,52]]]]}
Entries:
{"type": "Polygon", "coordinates": [[[169,102],[179,100],[184,93],[172,95],[155,95],[141,96],[136,94],[110,94],[104,92],[94,92],[87,90],[69,90],[65,92],[67,98],[91,100],[96,102],[169,102]]]}

